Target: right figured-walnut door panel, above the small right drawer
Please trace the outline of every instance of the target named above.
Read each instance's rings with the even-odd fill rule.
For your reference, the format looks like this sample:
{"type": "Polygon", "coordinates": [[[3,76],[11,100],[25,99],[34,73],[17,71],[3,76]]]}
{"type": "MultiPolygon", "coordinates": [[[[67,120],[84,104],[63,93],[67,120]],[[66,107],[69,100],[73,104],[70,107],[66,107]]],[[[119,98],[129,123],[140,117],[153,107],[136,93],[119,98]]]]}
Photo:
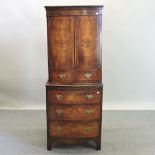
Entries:
{"type": "Polygon", "coordinates": [[[98,16],[76,19],[76,53],[79,69],[97,68],[100,63],[100,20],[98,16]]]}

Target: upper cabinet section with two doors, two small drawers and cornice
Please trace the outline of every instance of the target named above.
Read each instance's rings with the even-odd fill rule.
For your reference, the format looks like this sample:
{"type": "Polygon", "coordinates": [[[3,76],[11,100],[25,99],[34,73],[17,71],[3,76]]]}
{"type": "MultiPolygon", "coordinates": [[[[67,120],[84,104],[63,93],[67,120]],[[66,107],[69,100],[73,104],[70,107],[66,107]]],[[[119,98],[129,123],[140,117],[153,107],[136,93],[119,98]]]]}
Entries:
{"type": "Polygon", "coordinates": [[[49,82],[102,80],[102,6],[46,7],[49,82]]]}

